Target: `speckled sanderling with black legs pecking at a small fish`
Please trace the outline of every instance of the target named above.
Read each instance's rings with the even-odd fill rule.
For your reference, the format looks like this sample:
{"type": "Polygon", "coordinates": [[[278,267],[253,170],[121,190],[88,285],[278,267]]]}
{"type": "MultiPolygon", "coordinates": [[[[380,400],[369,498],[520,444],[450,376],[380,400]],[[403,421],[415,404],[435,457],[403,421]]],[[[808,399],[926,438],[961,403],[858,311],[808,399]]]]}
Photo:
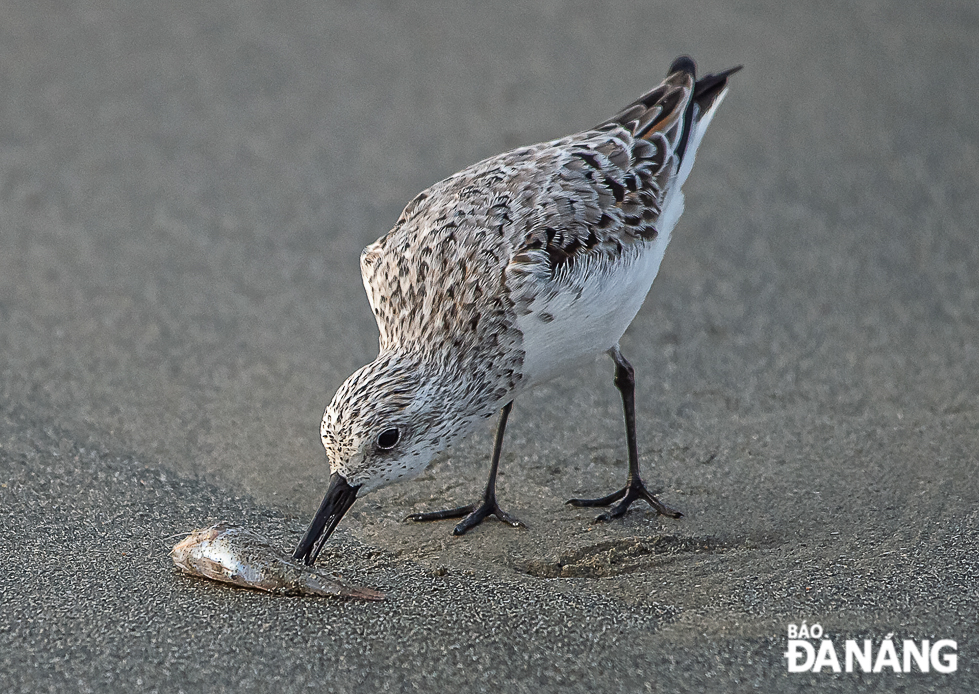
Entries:
{"type": "Polygon", "coordinates": [[[612,119],[436,183],[364,249],[380,353],[323,415],[330,486],[295,558],[316,560],[358,493],[414,477],[497,411],[481,502],[408,518],[462,518],[457,535],[491,514],[521,525],[496,502],[513,400],[602,352],[615,362],[629,476],[608,496],[568,503],[615,504],[598,520],[636,499],[681,516],[639,476],[634,373],[618,343],[656,277],[683,211],[680,188],[739,69],[698,80],[693,61],[677,58],[662,84],[612,119]]]}

